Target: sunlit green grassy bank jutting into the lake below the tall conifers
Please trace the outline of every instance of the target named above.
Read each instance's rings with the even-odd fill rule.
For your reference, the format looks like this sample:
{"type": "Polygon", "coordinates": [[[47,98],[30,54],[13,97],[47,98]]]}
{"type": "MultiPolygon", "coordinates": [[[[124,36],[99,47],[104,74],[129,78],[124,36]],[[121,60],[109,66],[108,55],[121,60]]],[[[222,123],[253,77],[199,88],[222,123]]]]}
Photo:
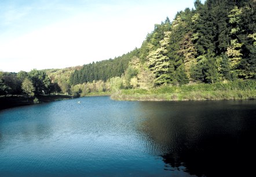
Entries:
{"type": "Polygon", "coordinates": [[[255,80],[239,80],[228,83],[162,86],[151,90],[120,90],[112,99],[128,101],[181,101],[256,99],[255,80]]]}

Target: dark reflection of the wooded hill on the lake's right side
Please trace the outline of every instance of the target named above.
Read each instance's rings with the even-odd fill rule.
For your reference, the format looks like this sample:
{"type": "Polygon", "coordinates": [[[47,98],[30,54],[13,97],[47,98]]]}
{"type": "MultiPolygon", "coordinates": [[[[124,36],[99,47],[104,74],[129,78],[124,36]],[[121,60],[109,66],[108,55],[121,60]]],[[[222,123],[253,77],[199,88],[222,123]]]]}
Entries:
{"type": "Polygon", "coordinates": [[[138,129],[165,170],[196,176],[254,173],[255,101],[141,102],[140,109],[144,121],[138,129]]]}

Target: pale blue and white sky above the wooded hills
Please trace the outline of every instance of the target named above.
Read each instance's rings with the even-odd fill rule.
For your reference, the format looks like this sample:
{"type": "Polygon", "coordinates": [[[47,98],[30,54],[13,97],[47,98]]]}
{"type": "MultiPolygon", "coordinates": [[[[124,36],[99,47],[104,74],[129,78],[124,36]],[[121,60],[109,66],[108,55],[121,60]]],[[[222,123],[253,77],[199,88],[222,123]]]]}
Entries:
{"type": "MultiPolygon", "coordinates": [[[[66,68],[140,47],[194,0],[1,0],[0,71],[66,68]]],[[[204,1],[202,1],[204,2],[204,1]]]]}

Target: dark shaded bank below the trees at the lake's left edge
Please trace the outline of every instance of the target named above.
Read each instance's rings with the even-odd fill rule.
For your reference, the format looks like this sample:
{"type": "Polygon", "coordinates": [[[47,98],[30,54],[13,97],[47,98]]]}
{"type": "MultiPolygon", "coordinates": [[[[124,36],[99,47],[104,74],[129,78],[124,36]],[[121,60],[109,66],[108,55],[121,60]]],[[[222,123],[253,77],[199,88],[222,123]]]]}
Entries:
{"type": "MultiPolygon", "coordinates": [[[[72,97],[69,95],[40,95],[38,97],[38,101],[40,102],[50,102],[50,101],[58,101],[63,99],[71,99],[72,97]]],[[[7,97],[0,97],[0,110],[6,108],[12,108],[16,106],[24,106],[34,104],[35,97],[26,98],[23,95],[8,95],[7,97]]]]}

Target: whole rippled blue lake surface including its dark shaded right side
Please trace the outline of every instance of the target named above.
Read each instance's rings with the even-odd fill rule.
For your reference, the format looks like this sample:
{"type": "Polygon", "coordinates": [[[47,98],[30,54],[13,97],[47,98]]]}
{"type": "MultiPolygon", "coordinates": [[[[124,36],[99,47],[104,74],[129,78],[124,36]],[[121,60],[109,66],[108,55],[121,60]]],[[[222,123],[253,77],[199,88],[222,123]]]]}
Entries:
{"type": "Polygon", "coordinates": [[[255,115],[256,101],[109,97],[6,109],[0,176],[245,176],[255,115]]]}

